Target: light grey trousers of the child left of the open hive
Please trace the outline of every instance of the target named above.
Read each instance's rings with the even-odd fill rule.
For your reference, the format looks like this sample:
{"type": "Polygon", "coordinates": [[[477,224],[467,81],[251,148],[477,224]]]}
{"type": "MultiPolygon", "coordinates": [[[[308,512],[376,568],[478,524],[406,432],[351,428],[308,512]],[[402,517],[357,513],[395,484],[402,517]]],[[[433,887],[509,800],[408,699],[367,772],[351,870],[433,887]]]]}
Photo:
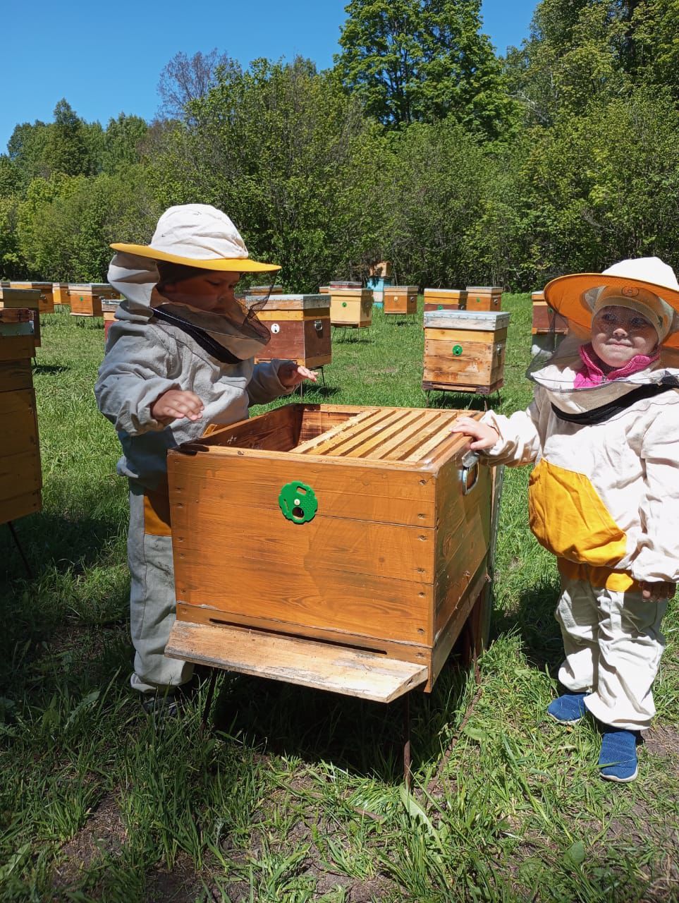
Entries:
{"type": "Polygon", "coordinates": [[[135,647],[135,672],[130,683],[140,693],[162,692],[191,680],[193,666],[165,657],[175,621],[172,536],[146,532],[144,488],[130,480],[130,529],[127,563],[130,569],[130,632],[135,647]]]}

